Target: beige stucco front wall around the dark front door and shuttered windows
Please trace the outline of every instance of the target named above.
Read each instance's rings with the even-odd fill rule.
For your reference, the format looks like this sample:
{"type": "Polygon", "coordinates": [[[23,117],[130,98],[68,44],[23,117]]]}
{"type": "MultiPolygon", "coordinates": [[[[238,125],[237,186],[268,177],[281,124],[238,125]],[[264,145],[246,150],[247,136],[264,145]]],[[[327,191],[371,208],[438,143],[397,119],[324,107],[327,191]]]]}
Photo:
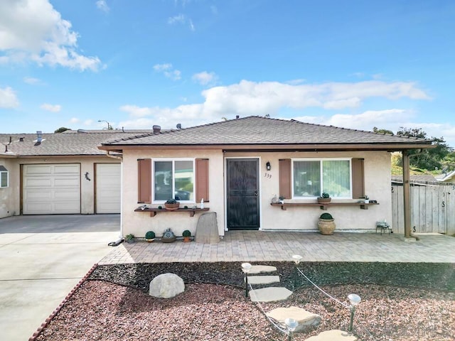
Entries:
{"type": "MultiPolygon", "coordinates": [[[[153,230],[160,237],[166,228],[171,228],[176,235],[184,229],[196,230],[198,215],[189,217],[187,213],[159,212],[150,217],[148,212],[134,212],[141,206],[137,202],[137,159],[138,158],[209,158],[210,176],[210,212],[218,217],[218,232],[225,232],[225,158],[259,158],[259,215],[263,230],[316,230],[319,215],[330,212],[336,220],[338,231],[371,230],[375,222],[392,220],[392,204],[390,195],[390,153],[385,151],[371,152],[331,152],[331,153],[223,153],[221,150],[154,150],[136,149],[124,151],[124,183],[123,183],[123,234],[132,233],[136,237],[144,237],[145,232],[153,230]],[[274,194],[279,195],[279,159],[280,158],[364,158],[365,193],[371,200],[378,200],[380,205],[371,205],[368,210],[360,210],[359,206],[333,206],[327,211],[319,207],[280,207],[271,206],[274,194]],[[269,161],[272,170],[267,172],[265,164],[269,161]]],[[[313,200],[312,202],[315,202],[313,200]]],[[[158,204],[151,205],[157,207],[158,204]]]]}

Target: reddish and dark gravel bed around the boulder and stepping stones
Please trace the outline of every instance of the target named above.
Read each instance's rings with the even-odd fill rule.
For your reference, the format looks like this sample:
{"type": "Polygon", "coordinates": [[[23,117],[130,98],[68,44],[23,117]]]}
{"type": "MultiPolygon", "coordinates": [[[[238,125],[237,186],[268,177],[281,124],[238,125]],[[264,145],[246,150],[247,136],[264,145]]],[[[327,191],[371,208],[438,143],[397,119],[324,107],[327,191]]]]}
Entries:
{"type": "MultiPolygon", "coordinates": [[[[294,294],[268,311],[298,305],[322,316],[317,330],[347,330],[349,310],[277,266],[294,294]]],[[[300,269],[340,301],[362,298],[355,313],[358,340],[455,340],[455,264],[304,263],[300,269]]],[[[287,340],[245,298],[240,263],[119,264],[98,266],[37,340],[287,340]],[[151,279],[178,274],[186,291],[170,299],[148,295],[151,279]]]]}

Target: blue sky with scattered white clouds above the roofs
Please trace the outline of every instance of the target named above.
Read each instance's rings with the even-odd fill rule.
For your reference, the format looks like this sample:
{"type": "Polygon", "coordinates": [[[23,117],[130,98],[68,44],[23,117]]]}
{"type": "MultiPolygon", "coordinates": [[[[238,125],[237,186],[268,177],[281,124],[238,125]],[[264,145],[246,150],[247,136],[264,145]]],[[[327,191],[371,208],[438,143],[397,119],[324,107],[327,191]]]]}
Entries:
{"type": "Polygon", "coordinates": [[[2,0],[0,132],[250,115],[455,146],[455,1],[2,0]]]}

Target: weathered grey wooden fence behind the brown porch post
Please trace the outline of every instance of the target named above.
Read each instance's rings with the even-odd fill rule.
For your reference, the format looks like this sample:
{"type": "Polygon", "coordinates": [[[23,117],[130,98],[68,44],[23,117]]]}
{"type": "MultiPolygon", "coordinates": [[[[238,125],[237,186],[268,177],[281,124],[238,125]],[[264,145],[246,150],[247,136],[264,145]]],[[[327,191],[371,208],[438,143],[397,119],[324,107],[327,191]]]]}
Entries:
{"type": "MultiPolygon", "coordinates": [[[[392,227],[405,233],[403,186],[392,185],[392,227]]],[[[455,184],[411,184],[411,233],[455,234],[455,184]]]]}

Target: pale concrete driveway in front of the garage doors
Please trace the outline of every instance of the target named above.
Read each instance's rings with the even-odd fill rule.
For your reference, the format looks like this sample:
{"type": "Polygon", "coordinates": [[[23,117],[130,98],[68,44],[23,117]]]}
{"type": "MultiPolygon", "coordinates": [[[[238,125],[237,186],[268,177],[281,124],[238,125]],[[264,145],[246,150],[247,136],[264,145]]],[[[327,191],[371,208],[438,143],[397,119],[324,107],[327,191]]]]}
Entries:
{"type": "Polygon", "coordinates": [[[28,340],[119,231],[120,215],[0,219],[1,340],[28,340]]]}

